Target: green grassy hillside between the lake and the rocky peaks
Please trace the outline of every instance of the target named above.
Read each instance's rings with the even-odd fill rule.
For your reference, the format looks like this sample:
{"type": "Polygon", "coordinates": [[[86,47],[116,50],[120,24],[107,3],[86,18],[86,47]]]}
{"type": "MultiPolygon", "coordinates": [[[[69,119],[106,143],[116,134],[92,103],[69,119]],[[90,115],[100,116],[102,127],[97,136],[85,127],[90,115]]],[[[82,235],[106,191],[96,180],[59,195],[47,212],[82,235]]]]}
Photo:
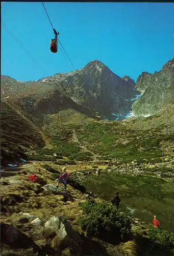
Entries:
{"type": "MultiPolygon", "coordinates": [[[[144,122],[144,119],[132,122],[94,121],[79,114],[71,116],[61,112],[45,119],[44,131],[54,145],[73,141],[93,152],[98,159],[118,159],[121,162],[134,159],[141,162],[146,159],[149,162],[161,162],[162,144],[165,151],[173,143],[173,126],[168,134],[158,128],[152,130],[150,125],[145,129],[144,122]]],[[[173,151],[170,153],[172,156],[173,151]]],[[[166,155],[164,152],[163,157],[166,155]]]]}

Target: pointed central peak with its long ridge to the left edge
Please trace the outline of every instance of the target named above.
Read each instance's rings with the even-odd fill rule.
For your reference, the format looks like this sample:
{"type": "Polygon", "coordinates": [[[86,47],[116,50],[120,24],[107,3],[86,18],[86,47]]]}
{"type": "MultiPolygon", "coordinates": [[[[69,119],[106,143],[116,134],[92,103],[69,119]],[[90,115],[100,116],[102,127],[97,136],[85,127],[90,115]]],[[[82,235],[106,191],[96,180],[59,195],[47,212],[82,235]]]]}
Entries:
{"type": "MultiPolygon", "coordinates": [[[[53,95],[60,93],[66,98],[64,98],[65,102],[72,100],[80,105],[80,108],[89,109],[88,112],[93,114],[94,112],[103,113],[109,119],[113,118],[111,112],[127,113],[131,110],[131,103],[125,99],[135,97],[138,93],[134,80],[128,76],[120,78],[98,60],[89,62],[82,69],[58,73],[38,81],[22,82],[8,76],[1,76],[1,91],[2,98],[8,102],[15,99],[20,101],[22,98],[40,102],[41,99],[45,101],[45,98],[51,95],[53,98],[53,95]]],[[[51,102],[49,100],[49,105],[52,105],[51,102]]],[[[70,105],[73,104],[71,102],[70,105]]],[[[43,107],[43,104],[41,105],[43,107]]],[[[74,106],[65,105],[74,108],[74,106]]],[[[59,111],[59,108],[56,110],[53,106],[52,109],[55,112],[59,111]]],[[[42,109],[39,108],[39,111],[42,112],[42,109]]]]}

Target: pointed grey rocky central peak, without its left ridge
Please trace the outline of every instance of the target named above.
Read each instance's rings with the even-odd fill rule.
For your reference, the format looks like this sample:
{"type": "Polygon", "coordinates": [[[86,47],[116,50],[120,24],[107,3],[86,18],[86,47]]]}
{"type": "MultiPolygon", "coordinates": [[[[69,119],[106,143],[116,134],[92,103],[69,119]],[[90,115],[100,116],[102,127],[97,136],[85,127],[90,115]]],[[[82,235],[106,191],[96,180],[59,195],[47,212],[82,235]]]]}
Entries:
{"type": "Polygon", "coordinates": [[[71,98],[106,117],[112,112],[127,113],[131,104],[125,99],[138,94],[134,80],[120,78],[98,60],[89,62],[61,84],[71,98]]]}

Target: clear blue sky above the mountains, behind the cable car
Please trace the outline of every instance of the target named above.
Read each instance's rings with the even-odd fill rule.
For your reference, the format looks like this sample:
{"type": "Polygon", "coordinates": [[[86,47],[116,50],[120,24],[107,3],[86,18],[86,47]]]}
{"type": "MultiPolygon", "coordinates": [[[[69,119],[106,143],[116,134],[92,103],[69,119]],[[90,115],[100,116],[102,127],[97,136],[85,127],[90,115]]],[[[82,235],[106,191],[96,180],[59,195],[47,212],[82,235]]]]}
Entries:
{"type": "Polygon", "coordinates": [[[58,53],[49,50],[54,33],[41,3],[6,2],[2,22],[40,64],[2,28],[1,74],[38,80],[98,59],[120,77],[136,80],[174,57],[173,3],[45,2],[45,7],[74,68],[60,46],[58,53]]]}

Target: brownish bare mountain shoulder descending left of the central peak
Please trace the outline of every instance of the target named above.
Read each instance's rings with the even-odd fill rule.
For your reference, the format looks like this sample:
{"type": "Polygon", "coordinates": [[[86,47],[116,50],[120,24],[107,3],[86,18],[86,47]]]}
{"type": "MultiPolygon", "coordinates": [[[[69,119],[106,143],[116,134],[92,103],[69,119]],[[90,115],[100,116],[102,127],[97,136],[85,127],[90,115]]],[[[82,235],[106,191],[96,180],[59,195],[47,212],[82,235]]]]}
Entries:
{"type": "Polygon", "coordinates": [[[20,86],[16,82],[13,88],[14,94],[8,88],[6,94],[4,90],[4,94],[9,96],[2,97],[2,101],[39,126],[43,126],[45,115],[52,115],[66,109],[73,109],[88,117],[97,118],[94,112],[74,102],[57,84],[25,82],[20,90],[20,86]]]}

